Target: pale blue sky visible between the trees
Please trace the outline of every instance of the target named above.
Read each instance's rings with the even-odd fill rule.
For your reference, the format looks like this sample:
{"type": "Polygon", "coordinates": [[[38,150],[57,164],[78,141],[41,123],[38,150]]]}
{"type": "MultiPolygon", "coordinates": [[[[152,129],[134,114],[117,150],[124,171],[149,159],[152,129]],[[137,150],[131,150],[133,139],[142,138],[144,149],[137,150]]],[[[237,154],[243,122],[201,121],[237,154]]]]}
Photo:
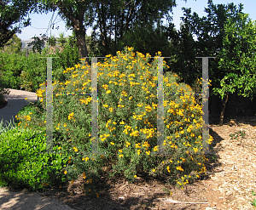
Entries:
{"type": "MultiPolygon", "coordinates": [[[[179,24],[181,22],[180,17],[183,16],[182,8],[191,8],[191,12],[196,12],[200,17],[206,16],[207,14],[204,12],[204,8],[207,8],[207,2],[208,0],[187,0],[187,3],[185,3],[183,0],[176,0],[177,7],[173,8],[173,22],[176,26],[177,30],[179,29],[179,24]]],[[[254,0],[213,0],[213,4],[218,3],[234,3],[238,6],[239,3],[244,4],[243,5],[243,13],[249,14],[249,18],[252,20],[256,20],[256,14],[254,8],[256,6],[256,1],[254,0]]],[[[67,37],[69,35],[72,35],[72,30],[66,30],[65,28],[65,22],[61,20],[61,17],[57,15],[57,11],[55,13],[51,12],[48,14],[29,14],[29,17],[31,18],[32,26],[27,26],[21,29],[21,33],[17,34],[18,37],[20,37],[21,40],[28,40],[34,36],[40,37],[40,33],[44,34],[46,33],[46,36],[55,36],[60,37],[59,34],[61,32],[64,32],[64,37],[67,37]],[[53,16],[53,18],[52,18],[53,16]],[[50,20],[52,19],[52,23],[55,23],[54,29],[52,29],[52,26],[50,26],[50,20]],[[59,29],[56,30],[56,27],[59,26],[59,29]],[[48,29],[49,28],[49,29],[48,29]],[[48,30],[47,30],[48,29],[48,30]]],[[[91,30],[88,29],[86,31],[87,35],[90,36],[91,30]]]]}

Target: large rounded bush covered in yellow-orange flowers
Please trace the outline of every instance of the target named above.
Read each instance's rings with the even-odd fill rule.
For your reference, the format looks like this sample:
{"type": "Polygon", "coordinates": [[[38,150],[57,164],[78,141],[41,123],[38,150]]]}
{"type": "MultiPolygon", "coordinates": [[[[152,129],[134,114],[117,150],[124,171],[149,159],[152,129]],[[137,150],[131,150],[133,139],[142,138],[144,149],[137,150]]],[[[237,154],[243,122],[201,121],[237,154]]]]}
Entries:
{"type": "MultiPolygon", "coordinates": [[[[160,56],[159,54],[157,54],[160,56]]],[[[67,179],[83,173],[92,184],[102,173],[102,167],[112,166],[109,176],[125,175],[134,180],[137,174],[167,175],[169,182],[183,187],[189,180],[206,172],[206,157],[200,152],[201,106],[193,95],[166,95],[164,148],[169,154],[155,154],[157,145],[157,68],[155,58],[149,64],[146,56],[132,52],[132,48],[108,55],[98,63],[98,123],[99,151],[90,152],[91,96],[56,94],[53,99],[54,129],[67,138],[60,144],[72,156],[67,179]]],[[[166,68],[164,61],[164,68],[166,68]]],[[[75,65],[64,71],[66,82],[55,81],[54,93],[91,93],[90,65],[75,65]]],[[[44,109],[45,83],[40,84],[38,97],[44,109]]],[[[192,89],[177,83],[177,75],[167,72],[164,77],[165,93],[191,93],[192,89]]],[[[209,142],[211,143],[212,137],[209,142]]]]}

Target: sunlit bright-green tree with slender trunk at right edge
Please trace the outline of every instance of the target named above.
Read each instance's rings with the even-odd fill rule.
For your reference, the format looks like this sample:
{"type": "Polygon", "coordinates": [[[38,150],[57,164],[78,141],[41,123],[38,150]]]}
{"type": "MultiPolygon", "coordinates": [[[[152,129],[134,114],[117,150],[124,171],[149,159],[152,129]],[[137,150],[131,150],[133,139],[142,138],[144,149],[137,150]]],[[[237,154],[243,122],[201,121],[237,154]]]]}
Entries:
{"type": "Polygon", "coordinates": [[[220,125],[223,125],[225,105],[229,94],[238,93],[253,99],[256,95],[256,25],[248,14],[238,14],[236,20],[229,19],[224,26],[223,48],[218,56],[218,68],[225,74],[220,87],[213,93],[224,100],[220,125]]]}

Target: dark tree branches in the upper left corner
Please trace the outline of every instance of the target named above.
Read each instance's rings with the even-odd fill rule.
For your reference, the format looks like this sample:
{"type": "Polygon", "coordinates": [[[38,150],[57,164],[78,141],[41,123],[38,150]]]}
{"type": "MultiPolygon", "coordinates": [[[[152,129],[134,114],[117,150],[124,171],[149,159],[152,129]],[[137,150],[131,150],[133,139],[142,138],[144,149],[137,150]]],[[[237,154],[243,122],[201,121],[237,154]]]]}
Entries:
{"type": "MultiPolygon", "coordinates": [[[[36,0],[37,3],[37,0],[36,0]]],[[[12,0],[0,1],[0,48],[3,48],[20,28],[30,26],[30,18],[25,19],[36,7],[35,1],[12,0]],[[19,23],[19,26],[13,26],[19,23]]]]}

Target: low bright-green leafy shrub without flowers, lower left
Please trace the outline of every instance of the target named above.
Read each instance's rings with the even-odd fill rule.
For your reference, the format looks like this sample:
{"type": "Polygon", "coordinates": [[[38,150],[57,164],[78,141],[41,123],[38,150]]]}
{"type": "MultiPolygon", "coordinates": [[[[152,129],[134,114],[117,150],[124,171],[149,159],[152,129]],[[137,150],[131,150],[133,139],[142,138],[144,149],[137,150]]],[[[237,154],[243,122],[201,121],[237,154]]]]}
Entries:
{"type": "Polygon", "coordinates": [[[59,154],[55,147],[53,154],[46,154],[45,145],[41,131],[13,128],[1,133],[0,185],[40,190],[65,182],[61,170],[66,166],[67,153],[59,154]]]}

